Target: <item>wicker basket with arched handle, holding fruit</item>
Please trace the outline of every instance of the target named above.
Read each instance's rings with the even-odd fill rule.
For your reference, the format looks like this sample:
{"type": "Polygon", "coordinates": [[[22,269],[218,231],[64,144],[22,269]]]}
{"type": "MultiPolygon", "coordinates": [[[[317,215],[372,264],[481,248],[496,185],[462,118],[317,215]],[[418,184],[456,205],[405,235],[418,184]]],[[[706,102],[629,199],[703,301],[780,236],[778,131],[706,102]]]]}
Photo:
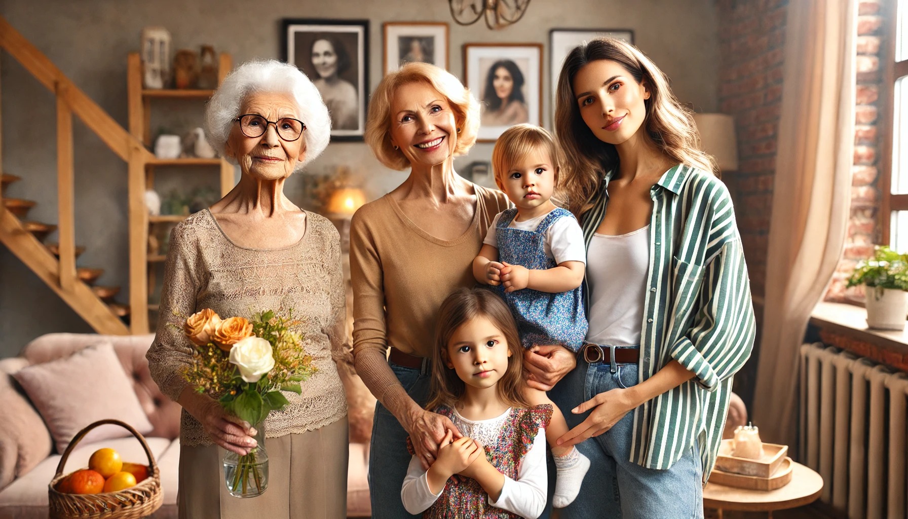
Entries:
{"type": "MultiPolygon", "coordinates": [[[[68,475],[68,474],[67,474],[68,475]]],[[[151,515],[161,508],[163,493],[161,492],[161,471],[158,464],[154,463],[154,456],[145,438],[128,424],[119,420],[100,420],[85,427],[76,434],[73,441],[66,447],[60,464],[57,464],[54,479],[48,485],[47,494],[50,503],[50,519],[139,519],[151,515]],[[63,468],[66,459],[73,452],[75,445],[84,438],[85,434],[98,425],[120,425],[133,434],[145,449],[148,455],[148,477],[139,484],[120,490],[118,492],[104,492],[102,494],[63,494],[57,492],[56,484],[64,478],[63,468]]]]}

